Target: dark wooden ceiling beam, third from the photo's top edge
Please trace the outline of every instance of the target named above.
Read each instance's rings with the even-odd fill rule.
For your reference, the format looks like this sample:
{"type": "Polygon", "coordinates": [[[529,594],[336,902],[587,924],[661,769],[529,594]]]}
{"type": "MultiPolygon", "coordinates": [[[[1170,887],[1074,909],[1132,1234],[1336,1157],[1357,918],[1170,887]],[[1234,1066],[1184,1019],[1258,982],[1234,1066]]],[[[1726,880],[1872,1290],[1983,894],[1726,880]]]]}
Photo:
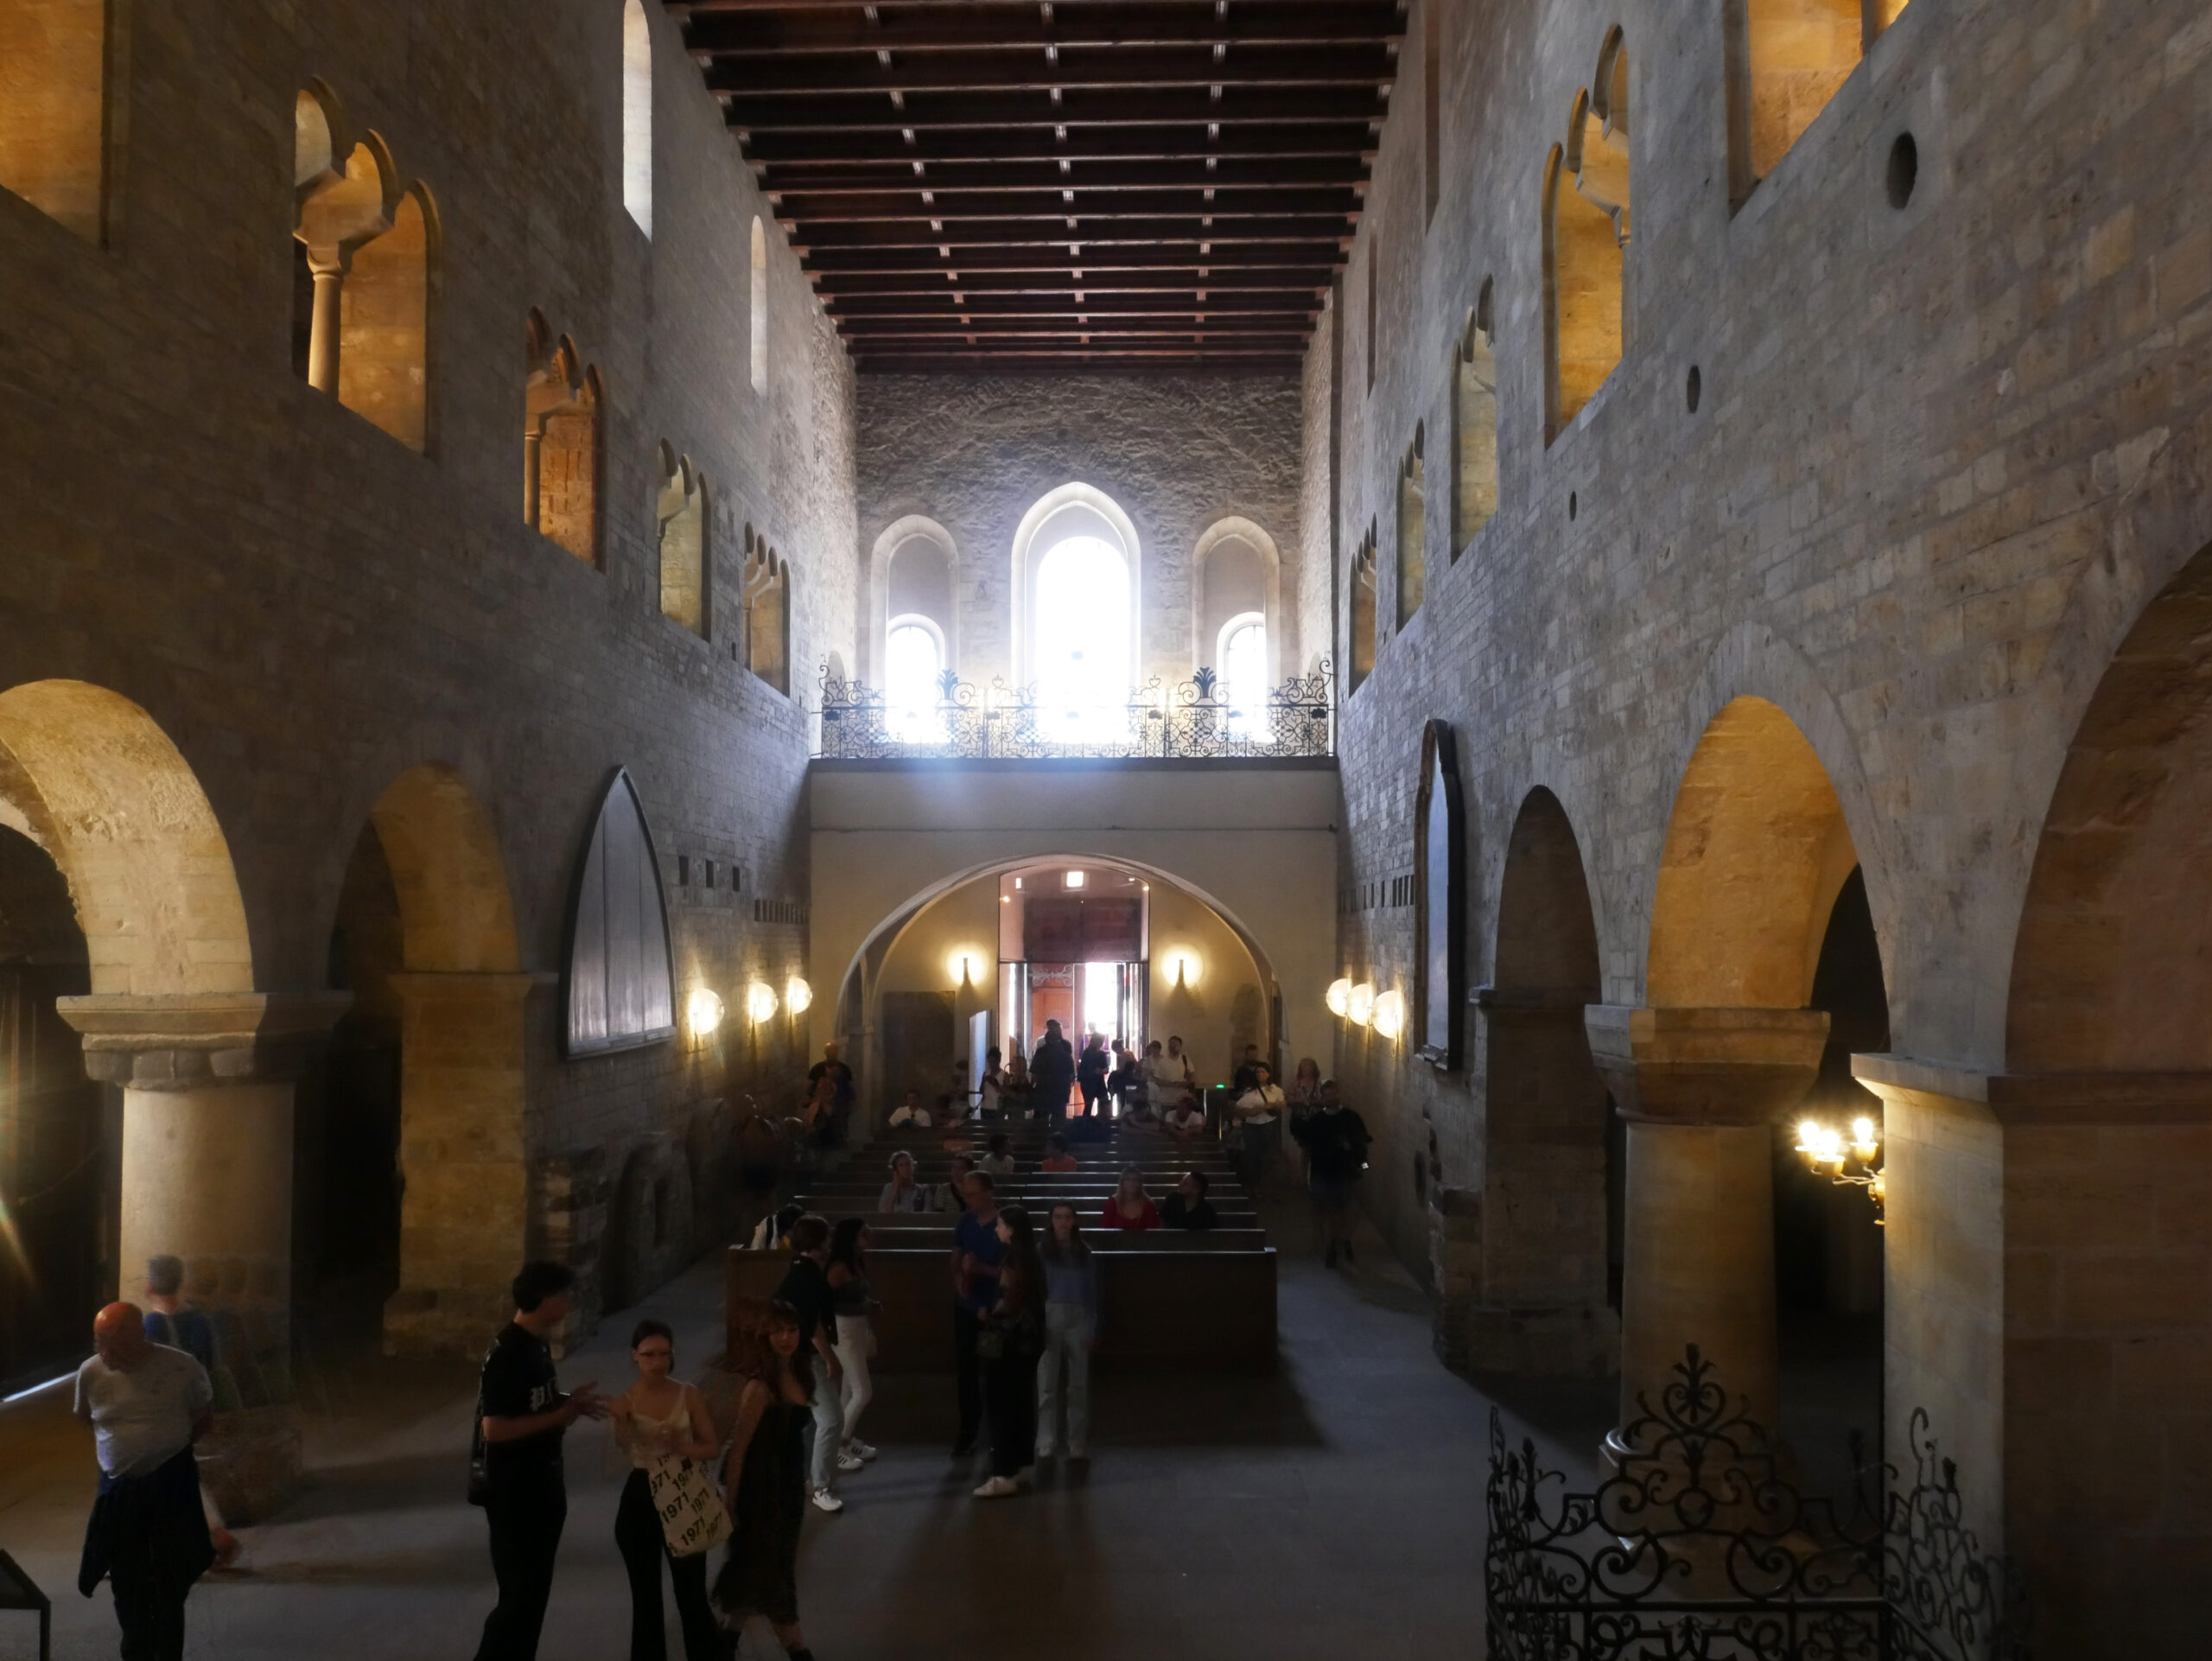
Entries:
{"type": "MultiPolygon", "coordinates": [[[[922,133],[933,128],[1042,128],[1086,126],[1267,126],[1312,122],[1380,122],[1387,100],[1371,86],[1203,86],[1071,88],[1006,93],[914,93],[894,106],[885,93],[823,93],[723,97],[723,113],[739,133],[922,133]]],[[[1188,153],[1188,150],[1186,150],[1188,153]]],[[[1203,146],[1199,148],[1203,155],[1203,146]]]]}

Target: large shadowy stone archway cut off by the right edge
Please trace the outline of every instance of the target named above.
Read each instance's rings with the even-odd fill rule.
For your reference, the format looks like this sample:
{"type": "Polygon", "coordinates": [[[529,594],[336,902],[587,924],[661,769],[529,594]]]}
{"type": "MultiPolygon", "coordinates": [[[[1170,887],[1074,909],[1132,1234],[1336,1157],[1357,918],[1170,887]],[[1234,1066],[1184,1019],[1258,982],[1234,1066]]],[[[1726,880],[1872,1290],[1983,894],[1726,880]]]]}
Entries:
{"type": "Polygon", "coordinates": [[[1986,1190],[1949,1236],[1938,1216],[1931,1239],[1891,1250],[1911,1245],[1918,1265],[1944,1245],[1986,1256],[2002,1241],[1980,1285],[1929,1287],[1949,1294],[1936,1305],[1949,1343],[1911,1360],[2002,1458],[2004,1550],[2033,1588],[2037,1646],[2057,1654],[2194,1641],[2192,1599],[2143,1581],[2139,1564],[2199,1553],[2201,1533],[2137,1451],[2197,1435],[2203,1389],[2181,1356],[2212,1343],[2208,717],[2212,546],[2135,619],[2059,767],[2013,947],[2006,1077],[1989,1090],[1997,1126],[1891,1159],[1893,1205],[1922,1183],[1951,1203],[1962,1172],[1969,1194],[1986,1190]],[[2026,1300],[2037,1285],[2051,1296],[2026,1300]],[[2124,1411],[2084,1413],[2079,1391],[2051,1389],[2059,1354],[2068,1380],[2128,1380],[2124,1398],[2101,1398],[2124,1411]]]}

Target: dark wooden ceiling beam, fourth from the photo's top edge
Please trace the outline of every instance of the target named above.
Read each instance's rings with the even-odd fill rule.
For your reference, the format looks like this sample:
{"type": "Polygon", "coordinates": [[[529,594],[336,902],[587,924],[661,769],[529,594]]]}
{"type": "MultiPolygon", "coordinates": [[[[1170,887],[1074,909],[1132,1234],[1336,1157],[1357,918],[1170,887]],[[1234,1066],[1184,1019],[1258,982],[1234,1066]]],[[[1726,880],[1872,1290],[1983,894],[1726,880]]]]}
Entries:
{"type": "Polygon", "coordinates": [[[801,170],[849,161],[1175,161],[1192,157],[1325,157],[1338,164],[1374,161],[1374,122],[1230,124],[1208,137],[1199,126],[1071,126],[1066,137],[1048,126],[918,128],[909,144],[896,126],[865,133],[752,133],[745,155],[754,164],[801,170]]]}

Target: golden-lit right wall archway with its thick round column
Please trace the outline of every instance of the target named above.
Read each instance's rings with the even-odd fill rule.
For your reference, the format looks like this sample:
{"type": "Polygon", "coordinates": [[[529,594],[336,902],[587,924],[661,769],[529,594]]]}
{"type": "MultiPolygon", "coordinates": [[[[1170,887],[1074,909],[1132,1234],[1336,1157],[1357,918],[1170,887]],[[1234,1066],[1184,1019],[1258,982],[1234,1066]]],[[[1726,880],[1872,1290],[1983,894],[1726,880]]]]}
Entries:
{"type": "MultiPolygon", "coordinates": [[[[1781,1422],[1774,1172],[1792,1137],[1776,1121],[1823,1066],[1838,1079],[1849,1066],[1816,989],[1854,1013],[1836,1040],[1858,1037],[1869,1006],[1887,1013],[1871,913],[1832,927],[1856,869],[1818,752],[1778,706],[1730,701],[1699,737],[1668,821],[1648,1009],[1630,1017],[1635,1066],[1606,1068],[1630,1121],[1624,1413],[1697,1343],[1754,1418],[1781,1422]]],[[[1847,1411],[1871,1429],[1878,1382],[1863,1396],[1847,1411]]]]}

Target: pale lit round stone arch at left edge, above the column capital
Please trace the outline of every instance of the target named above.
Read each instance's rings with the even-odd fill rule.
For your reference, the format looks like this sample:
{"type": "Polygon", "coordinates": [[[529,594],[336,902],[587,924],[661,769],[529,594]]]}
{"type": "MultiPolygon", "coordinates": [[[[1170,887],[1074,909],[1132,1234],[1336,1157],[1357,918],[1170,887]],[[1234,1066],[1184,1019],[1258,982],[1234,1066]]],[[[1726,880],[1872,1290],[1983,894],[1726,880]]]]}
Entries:
{"type": "Polygon", "coordinates": [[[137,703],[86,681],[0,692],[0,823],[69,880],[95,997],[252,991],[230,843],[137,703]]]}

